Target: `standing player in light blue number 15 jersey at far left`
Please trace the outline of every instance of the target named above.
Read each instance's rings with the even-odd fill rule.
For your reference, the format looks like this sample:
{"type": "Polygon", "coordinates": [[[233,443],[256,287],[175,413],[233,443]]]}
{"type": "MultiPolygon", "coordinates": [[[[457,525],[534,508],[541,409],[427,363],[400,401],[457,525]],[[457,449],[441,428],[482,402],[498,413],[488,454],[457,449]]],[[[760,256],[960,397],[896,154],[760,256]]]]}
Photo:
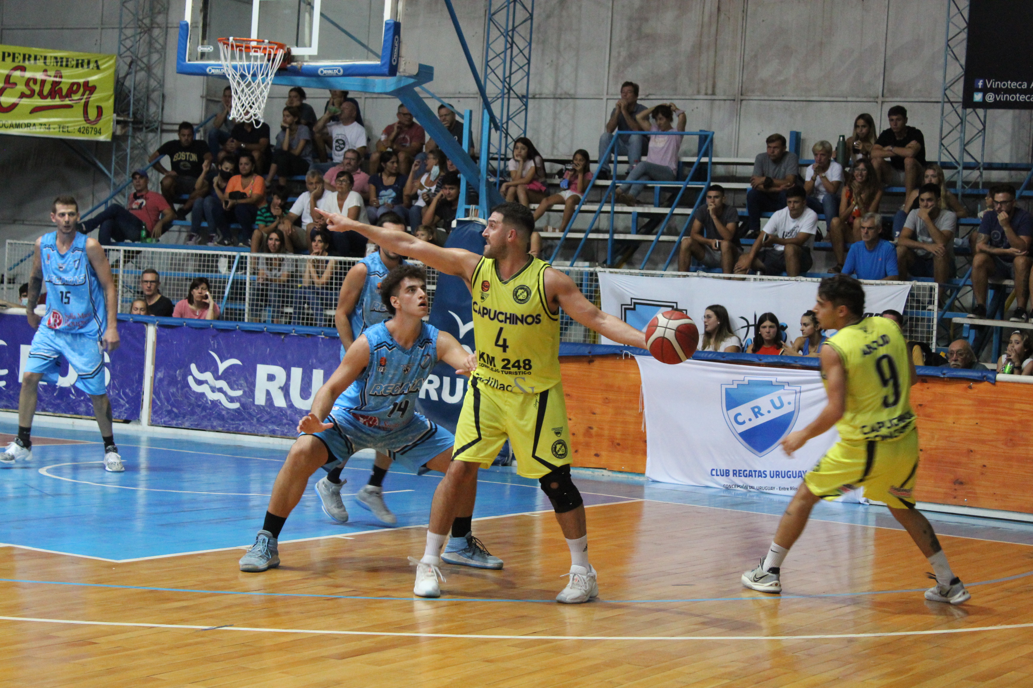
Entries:
{"type": "Polygon", "coordinates": [[[119,346],[115,282],[104,250],[96,239],[76,231],[79,203],[58,196],[51,207],[57,231],[36,239],[29,277],[29,303],[39,299],[46,283],[46,313],[40,318],[26,307],[29,326],[36,330],[22,375],[18,400],[18,437],[0,454],[0,465],[32,459],[32,417],[36,414],[39,382],[57,385],[61,358],[77,374],[75,387],[90,395],[93,415],[104,440],[104,469],[125,470],[112,431],[112,403],[104,381],[103,350],[119,346]]]}

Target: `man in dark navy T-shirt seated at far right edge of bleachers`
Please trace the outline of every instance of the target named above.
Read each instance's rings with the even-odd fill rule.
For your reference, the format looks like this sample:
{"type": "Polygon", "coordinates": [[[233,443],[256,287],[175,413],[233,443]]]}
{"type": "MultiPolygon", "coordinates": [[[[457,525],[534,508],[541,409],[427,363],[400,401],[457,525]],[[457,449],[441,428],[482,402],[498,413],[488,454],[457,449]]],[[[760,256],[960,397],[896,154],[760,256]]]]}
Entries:
{"type": "Polygon", "coordinates": [[[994,211],[982,216],[979,237],[972,260],[972,293],[975,305],[970,318],[987,317],[987,291],[990,279],[1014,280],[1015,310],[1009,320],[1026,322],[1029,298],[1030,241],[1033,217],[1015,206],[1015,189],[1010,184],[990,188],[994,211]]]}

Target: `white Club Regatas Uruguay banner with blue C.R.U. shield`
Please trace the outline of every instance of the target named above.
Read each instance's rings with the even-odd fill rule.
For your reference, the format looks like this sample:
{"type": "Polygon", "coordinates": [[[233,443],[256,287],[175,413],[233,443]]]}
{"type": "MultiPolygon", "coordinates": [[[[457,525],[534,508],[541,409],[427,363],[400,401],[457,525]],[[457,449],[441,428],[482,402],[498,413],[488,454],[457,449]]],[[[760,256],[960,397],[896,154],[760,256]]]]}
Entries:
{"type": "Polygon", "coordinates": [[[791,457],[779,446],[824,407],[817,370],[635,358],[651,480],[792,495],[839,438],[833,428],[791,457]]]}

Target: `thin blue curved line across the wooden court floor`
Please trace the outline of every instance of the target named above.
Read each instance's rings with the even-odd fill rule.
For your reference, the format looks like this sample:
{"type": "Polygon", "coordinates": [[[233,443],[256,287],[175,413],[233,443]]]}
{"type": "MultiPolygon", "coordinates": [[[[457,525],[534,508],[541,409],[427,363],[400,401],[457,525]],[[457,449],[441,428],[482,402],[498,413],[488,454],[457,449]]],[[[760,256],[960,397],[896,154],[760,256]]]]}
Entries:
{"type": "MultiPolygon", "coordinates": [[[[1033,571],[1015,574],[990,581],[966,583],[965,587],[974,588],[978,585],[1006,583],[1021,578],[1033,576],[1033,571]]],[[[112,585],[106,583],[72,583],[69,581],[29,581],[23,579],[0,578],[0,583],[29,583],[33,585],[67,585],[82,588],[113,588],[117,590],[151,590],[156,592],[197,592],[206,595],[249,595],[255,597],[313,597],[317,599],[367,599],[393,602],[411,602],[413,600],[441,602],[554,602],[553,599],[516,599],[503,597],[375,597],[372,595],[316,595],[298,592],[253,592],[243,590],[194,590],[192,588],[156,588],[143,585],[112,585]]],[[[870,590],[865,592],[826,592],[814,595],[764,595],[762,597],[688,597],[681,599],[597,599],[598,602],[611,604],[644,604],[655,602],[743,602],[757,599],[820,599],[824,597],[862,597],[865,595],[893,595],[905,592],[925,592],[926,588],[906,588],[902,590],[870,590]]]]}

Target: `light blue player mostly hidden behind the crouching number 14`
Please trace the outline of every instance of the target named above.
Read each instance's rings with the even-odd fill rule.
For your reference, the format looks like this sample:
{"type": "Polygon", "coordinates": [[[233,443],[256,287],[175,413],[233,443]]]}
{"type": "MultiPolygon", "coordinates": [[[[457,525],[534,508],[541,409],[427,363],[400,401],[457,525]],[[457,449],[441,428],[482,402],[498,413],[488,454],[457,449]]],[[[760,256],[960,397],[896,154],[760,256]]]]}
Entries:
{"type": "MultiPolygon", "coordinates": [[[[377,226],[405,231],[402,218],[394,212],[384,212],[380,216],[377,226]]],[[[337,313],[334,314],[337,332],[341,337],[342,360],[348,347],[359,334],[367,328],[390,318],[387,306],[380,298],[380,282],[387,276],[392,268],[398,267],[403,262],[401,256],[379,249],[348,270],[341,284],[337,313]]],[[[383,481],[387,469],[390,468],[390,461],[389,456],[377,452],[369,483],[355,494],[355,499],[381,522],[395,525],[398,523],[398,518],[387,509],[383,498],[383,481]]],[[[343,504],[341,502],[343,486],[340,466],[331,470],[328,476],[315,485],[315,491],[323,502],[323,512],[338,523],[345,523],[348,520],[347,511],[338,510],[336,506],[338,503],[343,504]]]]}

